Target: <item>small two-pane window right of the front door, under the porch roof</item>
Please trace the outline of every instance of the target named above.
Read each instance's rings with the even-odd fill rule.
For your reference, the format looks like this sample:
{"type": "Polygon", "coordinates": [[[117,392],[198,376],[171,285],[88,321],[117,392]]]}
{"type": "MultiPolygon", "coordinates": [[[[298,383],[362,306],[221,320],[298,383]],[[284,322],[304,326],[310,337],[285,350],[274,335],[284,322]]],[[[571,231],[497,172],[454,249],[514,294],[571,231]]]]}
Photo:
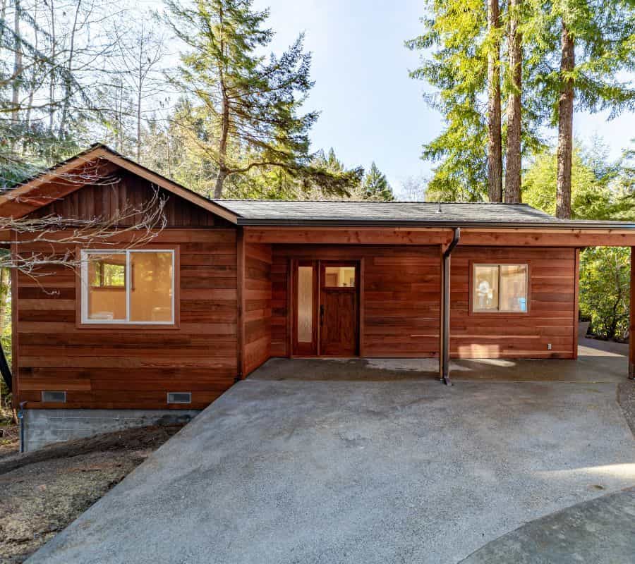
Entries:
{"type": "Polygon", "coordinates": [[[472,311],[526,313],[528,282],[527,264],[473,264],[472,311]]]}

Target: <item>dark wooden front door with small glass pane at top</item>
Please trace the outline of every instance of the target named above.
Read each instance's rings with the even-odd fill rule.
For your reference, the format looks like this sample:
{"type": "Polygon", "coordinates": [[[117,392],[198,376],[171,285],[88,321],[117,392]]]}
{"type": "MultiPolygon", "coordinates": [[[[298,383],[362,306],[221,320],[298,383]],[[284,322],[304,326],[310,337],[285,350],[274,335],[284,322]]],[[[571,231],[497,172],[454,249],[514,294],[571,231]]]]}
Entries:
{"type": "Polygon", "coordinates": [[[358,353],[358,266],[320,262],[320,355],[358,353]]]}

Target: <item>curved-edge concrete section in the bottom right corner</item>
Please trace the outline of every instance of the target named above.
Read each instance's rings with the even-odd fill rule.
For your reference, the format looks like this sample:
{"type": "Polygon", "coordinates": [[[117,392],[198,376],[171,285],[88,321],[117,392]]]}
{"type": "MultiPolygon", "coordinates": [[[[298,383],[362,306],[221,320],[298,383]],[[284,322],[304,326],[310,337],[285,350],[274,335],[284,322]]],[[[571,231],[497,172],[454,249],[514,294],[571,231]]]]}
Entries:
{"type": "Polygon", "coordinates": [[[635,561],[635,488],[578,503],[492,541],[461,564],[635,561]]]}

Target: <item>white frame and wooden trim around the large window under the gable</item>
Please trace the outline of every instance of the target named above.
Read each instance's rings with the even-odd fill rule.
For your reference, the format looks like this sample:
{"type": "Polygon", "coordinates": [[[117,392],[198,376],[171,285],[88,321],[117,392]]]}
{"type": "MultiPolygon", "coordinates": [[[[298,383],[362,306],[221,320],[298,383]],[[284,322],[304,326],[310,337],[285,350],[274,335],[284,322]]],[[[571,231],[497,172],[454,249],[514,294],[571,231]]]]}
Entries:
{"type": "MultiPolygon", "coordinates": [[[[144,327],[146,329],[179,329],[179,247],[176,245],[160,245],[157,247],[143,247],[126,249],[121,247],[113,248],[78,248],[80,256],[80,268],[77,272],[77,288],[80,289],[80,299],[77,307],[77,323],[76,325],[85,329],[99,328],[117,328],[117,329],[138,329],[144,327]],[[130,255],[134,252],[169,252],[172,255],[172,295],[171,309],[172,319],[170,321],[130,321],[130,300],[133,284],[131,276],[131,259],[130,255]],[[91,288],[90,280],[88,280],[88,263],[87,255],[123,255],[126,262],[126,284],[122,288],[126,292],[126,319],[113,319],[112,321],[104,319],[88,319],[88,291],[91,288]]],[[[99,290],[99,287],[97,287],[99,290]]]]}

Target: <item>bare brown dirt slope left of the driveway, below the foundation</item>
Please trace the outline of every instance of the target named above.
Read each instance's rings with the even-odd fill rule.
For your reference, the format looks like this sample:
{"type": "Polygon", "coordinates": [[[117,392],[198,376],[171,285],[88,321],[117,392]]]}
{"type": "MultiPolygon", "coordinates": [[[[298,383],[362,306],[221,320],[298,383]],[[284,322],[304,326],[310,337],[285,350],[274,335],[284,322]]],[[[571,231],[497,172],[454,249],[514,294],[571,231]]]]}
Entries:
{"type": "Polygon", "coordinates": [[[0,562],[21,563],[83,513],[181,425],[128,429],[23,455],[18,428],[0,437],[0,562]]]}

